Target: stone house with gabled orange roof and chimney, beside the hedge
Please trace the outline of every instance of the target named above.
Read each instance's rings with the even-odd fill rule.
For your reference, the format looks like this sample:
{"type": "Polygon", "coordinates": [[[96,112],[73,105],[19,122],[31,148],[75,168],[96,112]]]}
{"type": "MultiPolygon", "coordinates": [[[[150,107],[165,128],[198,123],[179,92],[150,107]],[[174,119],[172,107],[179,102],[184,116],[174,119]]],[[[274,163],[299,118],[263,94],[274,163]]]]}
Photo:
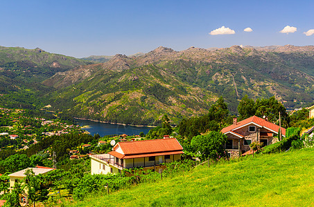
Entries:
{"type": "Polygon", "coordinates": [[[267,118],[253,116],[239,122],[234,118],[234,123],[223,128],[221,132],[228,137],[225,148],[230,157],[238,157],[241,153],[250,150],[250,144],[254,141],[259,141],[264,146],[277,142],[278,139],[274,137],[278,135],[279,128],[281,135],[286,137],[285,128],[271,123],[267,118]]]}

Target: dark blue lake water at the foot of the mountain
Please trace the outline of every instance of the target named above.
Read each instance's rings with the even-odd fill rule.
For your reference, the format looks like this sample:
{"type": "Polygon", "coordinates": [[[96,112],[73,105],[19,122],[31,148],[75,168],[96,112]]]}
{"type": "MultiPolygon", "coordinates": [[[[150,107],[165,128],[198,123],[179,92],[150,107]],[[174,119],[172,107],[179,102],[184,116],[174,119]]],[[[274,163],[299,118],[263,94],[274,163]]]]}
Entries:
{"type": "Polygon", "coordinates": [[[83,128],[87,130],[91,135],[101,135],[104,137],[105,135],[139,135],[140,132],[144,132],[146,135],[152,127],[148,126],[124,126],[121,124],[109,124],[102,123],[99,121],[90,121],[90,120],[82,120],[76,119],[76,123],[80,126],[89,126],[87,128],[83,128]]]}

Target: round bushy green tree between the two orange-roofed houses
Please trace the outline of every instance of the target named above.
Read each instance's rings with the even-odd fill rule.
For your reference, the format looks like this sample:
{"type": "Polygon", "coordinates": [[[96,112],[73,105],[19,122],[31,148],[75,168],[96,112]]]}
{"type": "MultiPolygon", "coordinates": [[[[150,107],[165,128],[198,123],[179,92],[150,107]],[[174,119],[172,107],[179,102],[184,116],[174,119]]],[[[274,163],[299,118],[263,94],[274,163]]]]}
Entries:
{"type": "Polygon", "coordinates": [[[224,156],[227,135],[211,131],[207,135],[198,135],[191,140],[195,152],[200,152],[203,158],[224,156]]]}

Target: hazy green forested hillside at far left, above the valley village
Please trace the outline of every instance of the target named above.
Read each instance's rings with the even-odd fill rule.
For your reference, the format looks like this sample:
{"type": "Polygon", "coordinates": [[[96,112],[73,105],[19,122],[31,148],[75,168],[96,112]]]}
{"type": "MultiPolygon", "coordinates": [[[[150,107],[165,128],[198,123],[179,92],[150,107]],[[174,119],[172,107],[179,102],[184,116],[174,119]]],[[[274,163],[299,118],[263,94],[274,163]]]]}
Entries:
{"type": "Polygon", "coordinates": [[[8,48],[0,46],[0,106],[37,106],[42,95],[53,88],[42,85],[56,72],[70,70],[91,61],[45,52],[40,48],[8,48]]]}

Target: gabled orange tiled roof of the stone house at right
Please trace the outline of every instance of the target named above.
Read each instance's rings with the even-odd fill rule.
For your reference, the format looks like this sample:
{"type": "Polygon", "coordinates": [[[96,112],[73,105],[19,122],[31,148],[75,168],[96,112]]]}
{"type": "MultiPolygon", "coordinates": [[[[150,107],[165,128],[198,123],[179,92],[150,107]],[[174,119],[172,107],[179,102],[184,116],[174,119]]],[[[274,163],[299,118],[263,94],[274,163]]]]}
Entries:
{"type": "MultiPolygon", "coordinates": [[[[268,130],[275,132],[275,133],[278,133],[278,131],[279,131],[278,125],[272,124],[270,121],[266,121],[265,119],[262,119],[260,117],[253,116],[253,117],[244,119],[243,121],[239,121],[236,125],[232,124],[230,126],[227,126],[227,127],[223,128],[221,130],[221,132],[223,132],[224,134],[229,132],[229,131],[234,132],[234,130],[237,130],[238,128],[242,128],[242,127],[247,126],[249,124],[254,124],[256,126],[268,129],[268,130]]],[[[286,129],[281,127],[281,133],[282,133],[282,135],[286,136],[286,129]]]]}

